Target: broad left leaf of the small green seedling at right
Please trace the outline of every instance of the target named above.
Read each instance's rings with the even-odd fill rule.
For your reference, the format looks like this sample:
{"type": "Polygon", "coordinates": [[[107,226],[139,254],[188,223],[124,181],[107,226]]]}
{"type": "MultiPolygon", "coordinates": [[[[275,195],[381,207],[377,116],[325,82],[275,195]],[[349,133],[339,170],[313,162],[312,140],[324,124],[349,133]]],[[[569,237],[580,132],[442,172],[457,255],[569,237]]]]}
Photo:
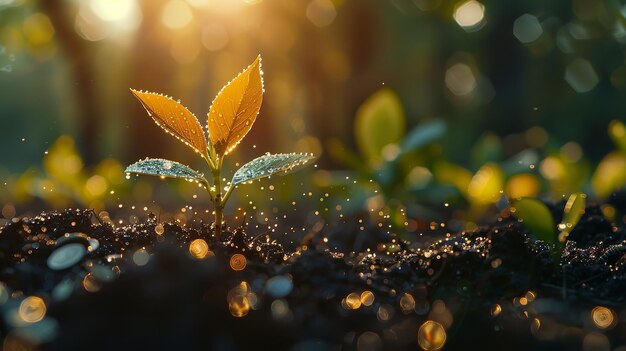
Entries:
{"type": "Polygon", "coordinates": [[[543,202],[523,197],[513,201],[511,213],[537,238],[550,246],[554,244],[554,219],[543,202]]]}

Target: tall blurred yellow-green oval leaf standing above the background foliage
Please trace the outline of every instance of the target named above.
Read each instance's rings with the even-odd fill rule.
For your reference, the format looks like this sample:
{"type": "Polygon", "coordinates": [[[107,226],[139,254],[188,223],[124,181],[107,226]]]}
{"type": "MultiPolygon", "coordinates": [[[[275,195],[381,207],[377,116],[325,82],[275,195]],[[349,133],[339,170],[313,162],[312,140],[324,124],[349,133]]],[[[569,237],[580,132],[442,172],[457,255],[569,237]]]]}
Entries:
{"type": "Polygon", "coordinates": [[[383,160],[383,149],[397,144],[404,135],[406,117],[400,99],[383,88],[370,96],[357,111],[354,133],[363,157],[372,165],[383,160]]]}

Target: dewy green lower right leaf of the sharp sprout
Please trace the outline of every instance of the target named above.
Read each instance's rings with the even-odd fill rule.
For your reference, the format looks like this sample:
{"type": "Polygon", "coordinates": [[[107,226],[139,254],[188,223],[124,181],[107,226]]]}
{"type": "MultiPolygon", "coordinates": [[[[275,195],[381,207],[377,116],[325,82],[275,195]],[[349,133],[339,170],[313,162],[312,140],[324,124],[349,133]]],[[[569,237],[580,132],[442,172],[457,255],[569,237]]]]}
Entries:
{"type": "Polygon", "coordinates": [[[314,158],[312,154],[265,154],[239,168],[231,180],[231,185],[269,177],[276,173],[289,173],[314,158]]]}

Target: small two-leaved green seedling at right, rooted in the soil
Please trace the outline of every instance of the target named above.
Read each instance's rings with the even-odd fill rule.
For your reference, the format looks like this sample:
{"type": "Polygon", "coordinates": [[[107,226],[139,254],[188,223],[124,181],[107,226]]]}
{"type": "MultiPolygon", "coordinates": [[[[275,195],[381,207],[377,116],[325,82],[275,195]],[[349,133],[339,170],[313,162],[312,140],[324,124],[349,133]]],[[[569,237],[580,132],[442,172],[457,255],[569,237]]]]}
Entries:
{"type": "Polygon", "coordinates": [[[563,220],[558,225],[554,224],[548,207],[537,199],[525,197],[513,201],[511,213],[531,233],[548,244],[555,263],[558,263],[569,234],[585,213],[586,198],[587,195],[584,193],[570,195],[563,210],[563,220]],[[555,229],[558,229],[558,235],[555,229]]]}

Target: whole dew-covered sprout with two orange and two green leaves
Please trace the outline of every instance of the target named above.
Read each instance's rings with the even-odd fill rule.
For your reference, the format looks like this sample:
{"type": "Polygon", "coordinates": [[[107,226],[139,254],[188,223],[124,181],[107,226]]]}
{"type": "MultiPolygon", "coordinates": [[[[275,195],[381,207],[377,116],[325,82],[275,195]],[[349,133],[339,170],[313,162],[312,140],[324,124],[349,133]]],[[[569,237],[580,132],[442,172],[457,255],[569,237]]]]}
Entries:
{"type": "Polygon", "coordinates": [[[224,207],[235,187],[273,174],[288,173],[314,158],[306,153],[268,153],[239,168],[228,184],[222,183],[224,158],[250,131],[261,108],[264,89],[260,55],[217,94],[207,114],[206,132],[196,116],[172,98],[131,91],[159,127],[191,147],[206,161],[212,182],[196,170],[164,159],[146,158],[128,166],[126,172],[182,178],[205,186],[214,206],[215,236],[218,240],[222,233],[224,207]],[[205,133],[208,133],[208,138],[205,133]]]}

